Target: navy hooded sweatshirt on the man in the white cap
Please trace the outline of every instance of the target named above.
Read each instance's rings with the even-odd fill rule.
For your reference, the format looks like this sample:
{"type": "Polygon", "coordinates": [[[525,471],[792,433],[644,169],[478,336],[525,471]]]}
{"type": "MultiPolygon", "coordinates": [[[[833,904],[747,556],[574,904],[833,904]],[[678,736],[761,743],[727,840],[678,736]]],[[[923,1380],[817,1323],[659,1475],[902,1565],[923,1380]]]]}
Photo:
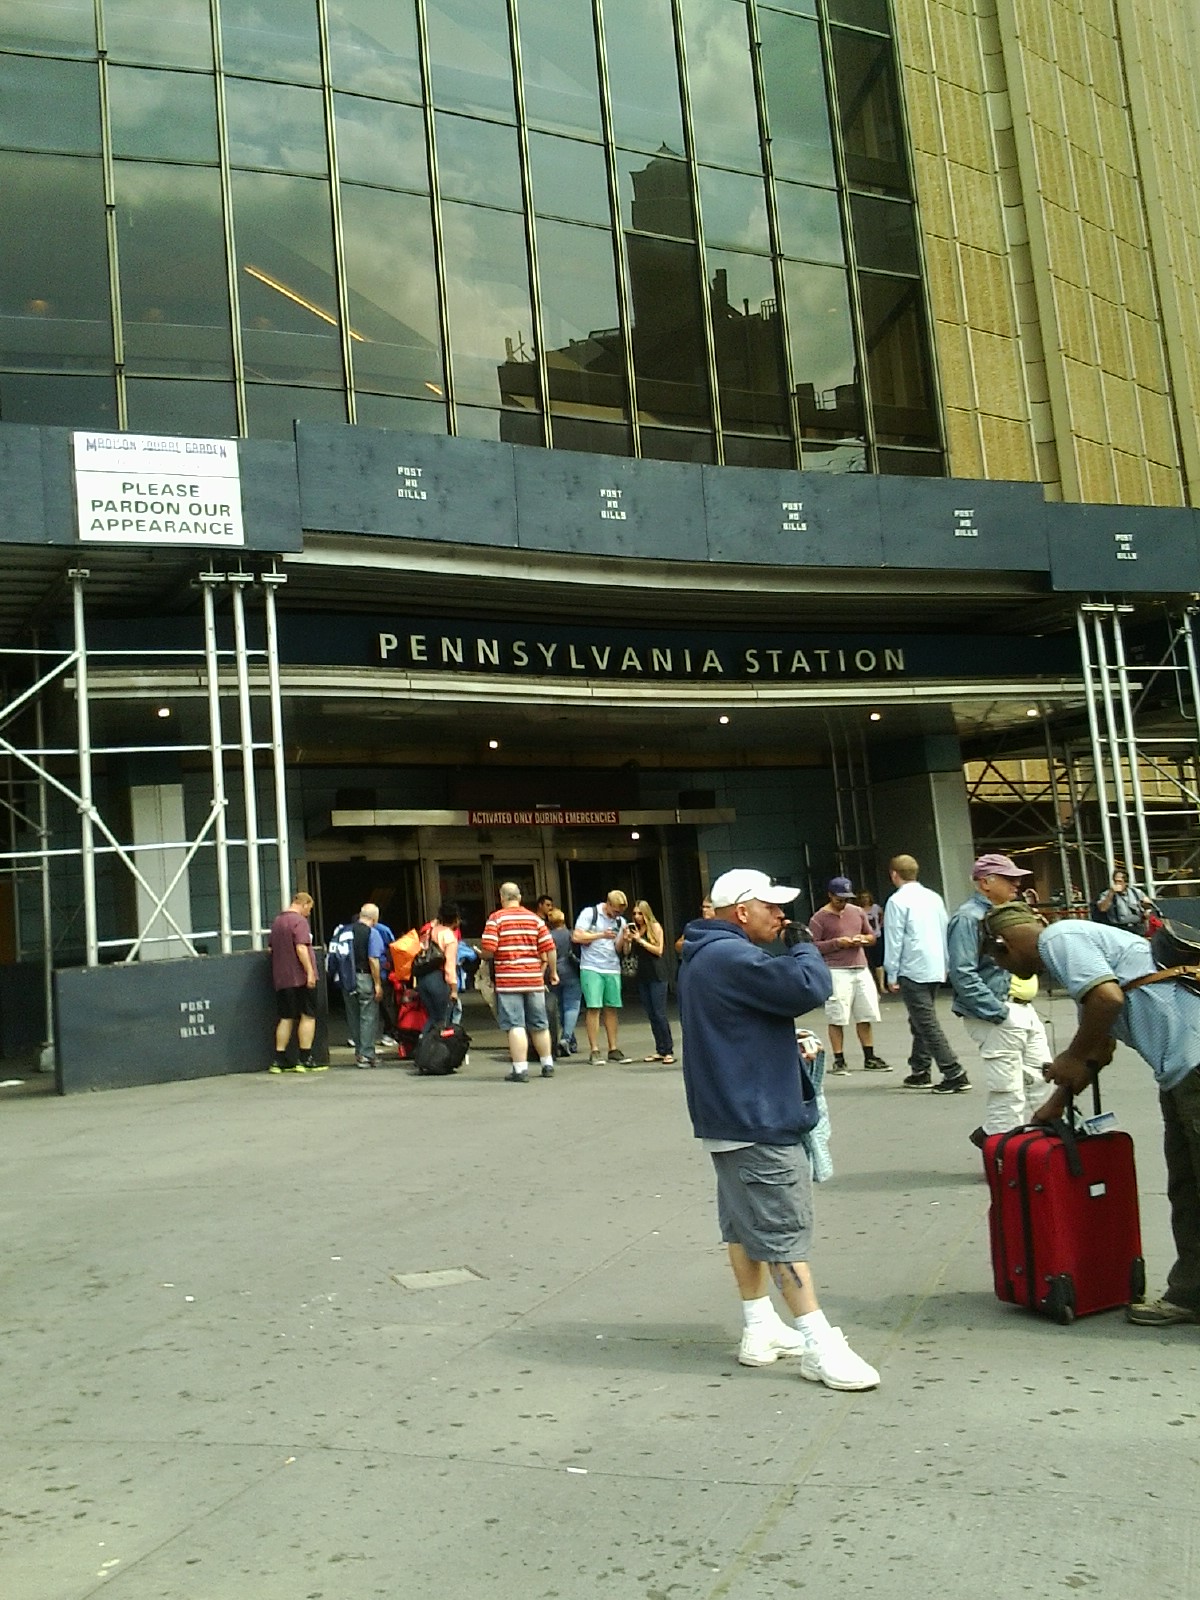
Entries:
{"type": "Polygon", "coordinates": [[[800,1142],[795,1019],[827,1000],[832,987],[811,944],[768,955],[738,923],[688,923],[678,1010],[683,1085],[698,1139],[800,1142]]]}

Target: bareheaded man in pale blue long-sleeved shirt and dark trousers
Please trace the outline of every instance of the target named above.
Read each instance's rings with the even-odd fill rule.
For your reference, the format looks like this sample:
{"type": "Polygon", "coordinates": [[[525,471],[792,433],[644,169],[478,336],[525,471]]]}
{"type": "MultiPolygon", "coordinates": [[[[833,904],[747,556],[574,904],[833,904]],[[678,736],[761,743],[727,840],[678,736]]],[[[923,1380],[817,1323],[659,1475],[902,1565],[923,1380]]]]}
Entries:
{"type": "Polygon", "coordinates": [[[971,1082],[938,1021],[938,987],[946,982],[946,906],[941,894],[917,882],[915,856],[891,858],[896,893],[883,907],[883,971],[888,989],[899,994],[909,1013],[912,1051],[906,1090],[960,1094],[971,1082]],[[933,1082],[933,1062],[941,1080],[933,1082]]]}

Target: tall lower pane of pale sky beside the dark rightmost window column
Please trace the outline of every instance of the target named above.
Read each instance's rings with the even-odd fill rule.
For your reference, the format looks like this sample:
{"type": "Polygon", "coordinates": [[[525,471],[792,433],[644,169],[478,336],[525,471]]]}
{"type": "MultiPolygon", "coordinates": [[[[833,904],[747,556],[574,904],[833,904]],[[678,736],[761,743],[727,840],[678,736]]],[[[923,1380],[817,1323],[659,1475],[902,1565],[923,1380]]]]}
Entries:
{"type": "Polygon", "coordinates": [[[845,272],[786,261],[787,334],[792,387],[803,434],[862,430],[858,355],[845,272]]]}

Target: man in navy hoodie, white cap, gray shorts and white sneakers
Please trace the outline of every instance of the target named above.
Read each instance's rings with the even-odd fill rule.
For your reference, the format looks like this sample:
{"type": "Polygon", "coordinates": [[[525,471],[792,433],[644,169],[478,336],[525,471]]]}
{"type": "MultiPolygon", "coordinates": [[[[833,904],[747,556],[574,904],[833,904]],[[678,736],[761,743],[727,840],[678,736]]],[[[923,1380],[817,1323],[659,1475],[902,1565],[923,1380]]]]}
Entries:
{"type": "Polygon", "coordinates": [[[800,1136],[813,1112],[795,1018],[827,1000],[832,982],[811,944],[792,944],[782,955],[765,949],[790,928],[782,907],[798,894],[739,867],[712,885],[712,918],[685,928],[683,1083],[696,1138],[717,1171],[717,1216],[742,1299],[738,1360],[770,1366],[797,1355],[813,1382],[874,1389],[878,1373],[830,1328],[808,1270],[813,1179],[800,1136]],[[770,1278],[792,1328],[771,1302],[770,1278]]]}

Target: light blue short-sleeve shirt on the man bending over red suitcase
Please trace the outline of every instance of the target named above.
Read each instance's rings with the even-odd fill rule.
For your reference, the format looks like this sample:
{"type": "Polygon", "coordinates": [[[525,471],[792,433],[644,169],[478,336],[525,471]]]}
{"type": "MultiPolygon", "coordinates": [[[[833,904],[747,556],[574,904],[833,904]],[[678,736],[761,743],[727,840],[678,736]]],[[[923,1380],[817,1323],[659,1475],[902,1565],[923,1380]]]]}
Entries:
{"type": "MultiPolygon", "coordinates": [[[[1077,1003],[1098,984],[1128,984],[1155,966],[1146,939],[1096,922],[1051,923],[1037,947],[1050,976],[1077,1003]]],[[[1200,1066],[1200,995],[1176,982],[1134,989],[1112,1034],[1150,1062],[1158,1088],[1173,1090],[1200,1066]]]]}

